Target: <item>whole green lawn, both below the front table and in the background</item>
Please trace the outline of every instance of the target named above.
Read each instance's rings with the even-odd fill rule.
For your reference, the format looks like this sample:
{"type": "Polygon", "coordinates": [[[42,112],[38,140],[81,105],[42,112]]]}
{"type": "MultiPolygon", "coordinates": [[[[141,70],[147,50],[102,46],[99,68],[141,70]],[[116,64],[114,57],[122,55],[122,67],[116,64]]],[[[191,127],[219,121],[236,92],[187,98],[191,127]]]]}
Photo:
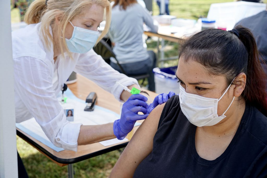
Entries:
{"type": "MultiPolygon", "coordinates": [[[[211,3],[231,2],[232,0],[170,0],[170,14],[177,18],[198,19],[207,16],[211,3]]],[[[265,0],[265,3],[267,0],[265,0]]],[[[153,1],[153,15],[159,14],[159,8],[153,1]]],[[[11,10],[11,22],[19,22],[18,9],[11,10]]],[[[156,50],[156,41],[147,43],[148,49],[156,50]]],[[[177,55],[177,43],[167,43],[165,56],[177,55]]],[[[165,62],[164,67],[177,65],[177,60],[165,62]]],[[[67,167],[59,167],[31,145],[17,137],[17,149],[25,164],[29,177],[67,177],[67,167]]],[[[75,177],[108,177],[120,156],[120,151],[112,151],[74,164],[75,177]]]]}

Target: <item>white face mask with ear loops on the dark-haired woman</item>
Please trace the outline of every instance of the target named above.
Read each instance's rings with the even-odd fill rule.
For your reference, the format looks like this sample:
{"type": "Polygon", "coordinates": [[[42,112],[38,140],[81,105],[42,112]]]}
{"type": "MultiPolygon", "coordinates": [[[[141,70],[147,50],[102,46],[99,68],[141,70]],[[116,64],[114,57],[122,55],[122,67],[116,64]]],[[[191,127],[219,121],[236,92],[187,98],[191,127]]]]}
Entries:
{"type": "Polygon", "coordinates": [[[186,93],[185,89],[180,85],[179,100],[183,114],[186,116],[189,122],[198,127],[217,124],[226,117],[224,114],[227,112],[234,101],[233,98],[226,111],[221,116],[218,116],[218,102],[222,99],[230,86],[231,84],[228,86],[222,96],[217,99],[206,98],[197,94],[186,93]]]}

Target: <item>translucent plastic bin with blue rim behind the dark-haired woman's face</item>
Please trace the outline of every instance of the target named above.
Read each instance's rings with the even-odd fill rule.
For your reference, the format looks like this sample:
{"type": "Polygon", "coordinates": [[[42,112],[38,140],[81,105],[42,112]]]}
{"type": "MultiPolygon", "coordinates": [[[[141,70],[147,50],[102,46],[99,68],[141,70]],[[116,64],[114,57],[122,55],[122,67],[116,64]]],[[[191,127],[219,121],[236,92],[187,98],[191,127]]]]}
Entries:
{"type": "Polygon", "coordinates": [[[180,93],[178,79],[175,76],[177,66],[168,68],[154,68],[156,93],[180,93]]]}

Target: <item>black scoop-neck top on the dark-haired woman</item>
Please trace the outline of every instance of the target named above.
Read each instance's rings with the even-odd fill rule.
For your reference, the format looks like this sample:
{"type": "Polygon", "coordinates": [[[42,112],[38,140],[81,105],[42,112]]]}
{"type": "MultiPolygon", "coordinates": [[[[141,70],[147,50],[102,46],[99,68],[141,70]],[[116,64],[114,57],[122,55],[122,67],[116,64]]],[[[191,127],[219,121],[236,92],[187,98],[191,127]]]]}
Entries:
{"type": "Polygon", "coordinates": [[[152,152],[133,177],[267,177],[267,118],[246,104],[233,140],[217,159],[201,158],[195,149],[197,126],[180,109],[179,96],[164,106],[152,152]]]}

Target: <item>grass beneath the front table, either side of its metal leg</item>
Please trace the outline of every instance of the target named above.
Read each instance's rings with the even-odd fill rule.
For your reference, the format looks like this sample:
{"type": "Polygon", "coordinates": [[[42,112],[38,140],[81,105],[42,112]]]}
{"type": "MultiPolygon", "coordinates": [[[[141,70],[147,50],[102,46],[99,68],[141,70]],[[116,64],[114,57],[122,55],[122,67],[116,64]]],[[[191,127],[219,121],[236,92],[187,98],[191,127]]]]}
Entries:
{"type": "MultiPolygon", "coordinates": [[[[30,178],[68,176],[66,166],[56,165],[18,136],[17,149],[30,178]]],[[[73,164],[75,177],[108,177],[120,156],[120,152],[121,149],[73,164]]]]}

